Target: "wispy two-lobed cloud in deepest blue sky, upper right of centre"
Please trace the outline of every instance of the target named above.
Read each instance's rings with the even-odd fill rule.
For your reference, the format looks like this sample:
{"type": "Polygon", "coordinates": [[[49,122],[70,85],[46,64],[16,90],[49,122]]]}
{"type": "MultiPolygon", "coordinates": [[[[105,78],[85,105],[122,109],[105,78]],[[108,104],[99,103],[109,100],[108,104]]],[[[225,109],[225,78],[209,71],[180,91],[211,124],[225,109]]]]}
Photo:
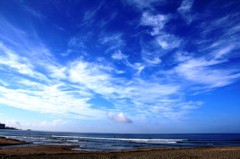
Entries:
{"type": "Polygon", "coordinates": [[[153,14],[151,11],[142,13],[140,24],[150,27],[148,34],[152,36],[152,41],[142,42],[141,45],[146,67],[160,64],[162,56],[181,45],[182,39],[166,31],[165,25],[169,20],[169,15],[153,14]]]}

